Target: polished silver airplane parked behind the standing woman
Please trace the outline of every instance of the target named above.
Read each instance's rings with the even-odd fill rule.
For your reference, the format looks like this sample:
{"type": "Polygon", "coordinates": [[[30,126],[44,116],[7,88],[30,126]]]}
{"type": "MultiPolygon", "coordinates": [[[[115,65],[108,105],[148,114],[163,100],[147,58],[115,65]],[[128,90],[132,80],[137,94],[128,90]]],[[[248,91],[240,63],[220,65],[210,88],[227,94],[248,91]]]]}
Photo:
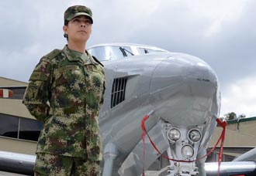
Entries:
{"type": "MultiPolygon", "coordinates": [[[[161,175],[168,176],[255,175],[255,160],[223,162],[220,171],[217,163],[205,163],[221,96],[216,73],[202,59],[130,43],[95,45],[88,52],[106,72],[99,113],[102,176],[144,175],[160,162],[167,167],[161,175]],[[172,160],[164,161],[165,155],[172,160]]],[[[27,157],[23,168],[32,172],[34,158],[27,157]]],[[[12,168],[19,161],[11,160],[12,168]]]]}

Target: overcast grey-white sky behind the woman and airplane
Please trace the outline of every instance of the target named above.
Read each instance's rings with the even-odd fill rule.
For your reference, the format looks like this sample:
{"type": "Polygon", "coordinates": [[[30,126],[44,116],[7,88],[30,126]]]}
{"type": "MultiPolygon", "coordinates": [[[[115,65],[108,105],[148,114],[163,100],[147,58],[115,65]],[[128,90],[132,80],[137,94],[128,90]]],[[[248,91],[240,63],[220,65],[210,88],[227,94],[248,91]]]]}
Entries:
{"type": "Polygon", "coordinates": [[[93,12],[87,47],[135,42],[198,56],[219,77],[221,115],[256,117],[254,0],[1,0],[0,76],[28,82],[41,56],[64,47],[63,14],[78,4],[93,12]]]}

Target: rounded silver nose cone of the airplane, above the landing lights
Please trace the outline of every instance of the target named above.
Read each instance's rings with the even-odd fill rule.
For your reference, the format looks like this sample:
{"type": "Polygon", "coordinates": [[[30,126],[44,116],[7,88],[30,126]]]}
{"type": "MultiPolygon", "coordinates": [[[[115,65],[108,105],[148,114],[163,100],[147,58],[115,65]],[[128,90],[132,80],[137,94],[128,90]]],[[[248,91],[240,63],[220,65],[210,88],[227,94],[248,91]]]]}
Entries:
{"type": "Polygon", "coordinates": [[[219,113],[219,96],[216,73],[194,56],[168,57],[156,66],[151,76],[150,101],[171,124],[204,123],[209,113],[219,113]]]}

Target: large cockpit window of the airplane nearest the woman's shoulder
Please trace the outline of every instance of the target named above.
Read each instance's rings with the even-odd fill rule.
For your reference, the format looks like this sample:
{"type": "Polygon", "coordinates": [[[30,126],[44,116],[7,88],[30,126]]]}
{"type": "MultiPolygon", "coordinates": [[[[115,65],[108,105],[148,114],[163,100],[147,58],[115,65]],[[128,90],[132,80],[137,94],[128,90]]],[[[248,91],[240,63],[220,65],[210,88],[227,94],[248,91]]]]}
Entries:
{"type": "Polygon", "coordinates": [[[99,46],[88,49],[88,52],[100,61],[115,60],[126,56],[133,56],[130,47],[127,46],[99,46]]]}

